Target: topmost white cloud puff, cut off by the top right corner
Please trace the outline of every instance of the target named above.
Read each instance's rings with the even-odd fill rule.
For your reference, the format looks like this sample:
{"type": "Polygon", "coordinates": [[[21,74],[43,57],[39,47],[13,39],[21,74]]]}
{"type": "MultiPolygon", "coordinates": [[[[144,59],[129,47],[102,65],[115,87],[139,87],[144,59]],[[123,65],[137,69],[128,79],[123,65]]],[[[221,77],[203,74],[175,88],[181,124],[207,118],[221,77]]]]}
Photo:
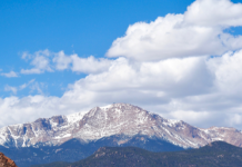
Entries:
{"type": "Polygon", "coordinates": [[[230,0],[196,0],[185,12],[185,22],[206,27],[242,26],[242,4],[230,0]]]}

